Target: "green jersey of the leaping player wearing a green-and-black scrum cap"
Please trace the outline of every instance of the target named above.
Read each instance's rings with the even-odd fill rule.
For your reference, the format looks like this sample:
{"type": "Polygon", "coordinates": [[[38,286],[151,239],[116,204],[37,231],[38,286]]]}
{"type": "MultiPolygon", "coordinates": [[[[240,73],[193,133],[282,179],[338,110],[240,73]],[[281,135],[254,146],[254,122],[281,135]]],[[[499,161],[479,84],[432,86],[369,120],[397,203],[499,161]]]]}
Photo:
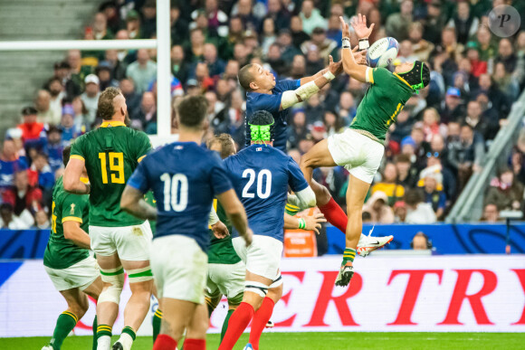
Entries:
{"type": "Polygon", "coordinates": [[[396,122],[397,114],[414,90],[406,80],[385,68],[370,70],[368,80],[370,87],[349,128],[367,131],[385,142],[388,128],[396,122]]]}

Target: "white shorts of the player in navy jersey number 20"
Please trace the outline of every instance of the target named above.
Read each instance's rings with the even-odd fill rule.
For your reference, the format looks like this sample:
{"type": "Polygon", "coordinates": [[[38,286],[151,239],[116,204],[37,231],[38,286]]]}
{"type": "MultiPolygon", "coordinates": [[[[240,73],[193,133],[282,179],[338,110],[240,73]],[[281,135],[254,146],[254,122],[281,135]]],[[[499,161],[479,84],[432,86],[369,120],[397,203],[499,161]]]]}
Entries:
{"type": "Polygon", "coordinates": [[[282,241],[253,234],[253,241],[249,247],[246,247],[242,237],[235,237],[232,242],[237,255],[246,264],[246,270],[266,279],[272,279],[275,283],[270,286],[271,288],[282,284],[280,270],[282,241]]]}

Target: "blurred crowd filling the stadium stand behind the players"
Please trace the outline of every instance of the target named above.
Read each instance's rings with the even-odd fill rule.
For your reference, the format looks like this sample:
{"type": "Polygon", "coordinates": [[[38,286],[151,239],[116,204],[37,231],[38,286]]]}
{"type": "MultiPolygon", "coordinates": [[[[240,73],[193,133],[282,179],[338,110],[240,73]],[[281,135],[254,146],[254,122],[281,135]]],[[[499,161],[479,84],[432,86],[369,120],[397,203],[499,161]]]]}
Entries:
{"type": "MultiPolygon", "coordinates": [[[[370,43],[393,36],[399,42],[395,64],[423,60],[432,72],[430,85],[408,100],[388,134],[364,221],[442,221],[469,177],[481,169],[525,85],[525,31],[500,38],[487,26],[492,7],[504,4],[525,13],[525,2],[518,0],[172,0],[173,103],[185,94],[204,94],[211,126],[207,137],[229,133],[243,147],[240,67],[257,62],[277,79],[314,74],[326,67],[330,54],[339,60],[339,16],[348,22],[354,14],[366,14],[375,24],[370,43]]],[[[156,15],[155,0],[106,1],[85,28],[84,39],[154,38],[156,15]]],[[[157,133],[156,54],[72,50],[55,63],[33,106],[22,110],[22,123],[5,135],[2,228],[49,227],[52,184],[63,171],[62,147],[100,124],[101,90],[119,87],[130,127],[157,133]]],[[[294,108],[289,154],[299,162],[316,142],[348,127],[366,90],[367,84],[343,74],[294,108]]],[[[491,181],[483,220],[498,221],[503,209],[522,210],[524,155],[522,136],[508,168],[491,181]]],[[[345,205],[347,170],[320,168],[315,179],[345,205]]]]}

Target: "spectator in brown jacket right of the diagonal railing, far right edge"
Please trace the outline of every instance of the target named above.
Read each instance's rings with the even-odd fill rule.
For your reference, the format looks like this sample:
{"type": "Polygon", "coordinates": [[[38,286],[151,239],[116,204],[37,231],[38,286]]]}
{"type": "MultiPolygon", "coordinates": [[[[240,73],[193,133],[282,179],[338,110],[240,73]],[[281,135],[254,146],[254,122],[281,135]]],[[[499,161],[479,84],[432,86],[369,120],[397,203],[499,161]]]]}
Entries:
{"type": "Polygon", "coordinates": [[[484,204],[496,204],[498,211],[520,210],[522,200],[523,184],[514,178],[511,169],[505,168],[498,177],[491,180],[484,204]]]}

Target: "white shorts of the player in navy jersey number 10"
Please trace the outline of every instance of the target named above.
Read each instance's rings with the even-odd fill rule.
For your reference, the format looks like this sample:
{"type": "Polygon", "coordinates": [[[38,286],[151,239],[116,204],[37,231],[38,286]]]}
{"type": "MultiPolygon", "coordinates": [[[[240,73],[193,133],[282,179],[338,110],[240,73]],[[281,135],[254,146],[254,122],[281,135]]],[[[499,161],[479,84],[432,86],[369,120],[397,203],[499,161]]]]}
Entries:
{"type": "Polygon", "coordinates": [[[158,298],[205,302],[208,256],[196,240],[180,234],[158,237],[149,263],[158,298]]]}

